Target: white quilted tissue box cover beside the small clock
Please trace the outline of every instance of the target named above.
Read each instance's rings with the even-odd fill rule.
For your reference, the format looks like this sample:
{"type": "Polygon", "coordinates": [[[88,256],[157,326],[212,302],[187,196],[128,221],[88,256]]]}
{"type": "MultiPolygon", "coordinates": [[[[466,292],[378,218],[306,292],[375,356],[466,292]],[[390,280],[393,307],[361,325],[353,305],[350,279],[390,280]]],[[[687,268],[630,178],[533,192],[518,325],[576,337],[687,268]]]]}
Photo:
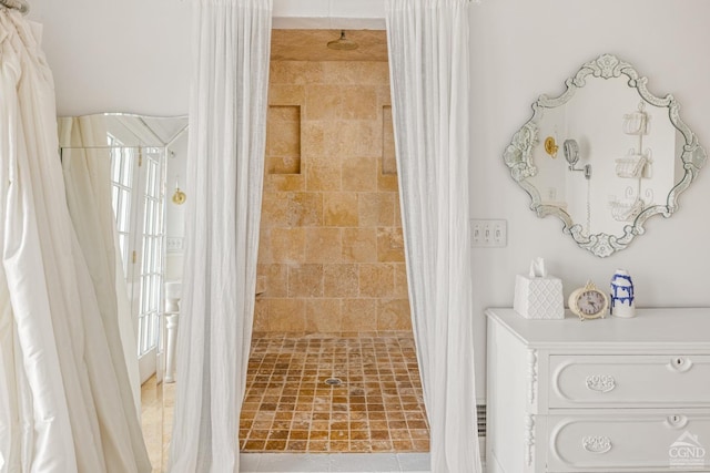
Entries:
{"type": "Polygon", "coordinates": [[[564,319],[561,279],[516,275],[513,308],[526,319],[564,319]]]}

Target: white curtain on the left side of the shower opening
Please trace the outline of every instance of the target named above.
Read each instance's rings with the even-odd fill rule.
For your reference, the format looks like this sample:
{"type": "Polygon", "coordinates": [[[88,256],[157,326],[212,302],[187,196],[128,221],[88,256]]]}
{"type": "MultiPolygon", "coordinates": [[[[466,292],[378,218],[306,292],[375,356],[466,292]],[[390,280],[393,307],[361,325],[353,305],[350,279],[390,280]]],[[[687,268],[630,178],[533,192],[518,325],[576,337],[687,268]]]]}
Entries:
{"type": "Polygon", "coordinates": [[[239,471],[256,288],[271,0],[195,0],[171,473],[239,471]]]}

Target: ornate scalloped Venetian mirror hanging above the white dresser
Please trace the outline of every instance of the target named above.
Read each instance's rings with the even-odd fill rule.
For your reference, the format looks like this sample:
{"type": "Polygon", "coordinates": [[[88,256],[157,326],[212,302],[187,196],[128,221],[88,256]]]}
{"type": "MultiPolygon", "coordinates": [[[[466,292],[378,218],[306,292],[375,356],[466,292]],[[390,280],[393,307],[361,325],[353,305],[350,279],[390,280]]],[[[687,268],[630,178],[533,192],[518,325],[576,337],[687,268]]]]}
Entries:
{"type": "Polygon", "coordinates": [[[539,217],[555,215],[581,248],[606,257],[670,217],[707,155],[680,120],[672,95],[658,97],[627,62],[604,54],[540,95],[504,157],[539,217]]]}

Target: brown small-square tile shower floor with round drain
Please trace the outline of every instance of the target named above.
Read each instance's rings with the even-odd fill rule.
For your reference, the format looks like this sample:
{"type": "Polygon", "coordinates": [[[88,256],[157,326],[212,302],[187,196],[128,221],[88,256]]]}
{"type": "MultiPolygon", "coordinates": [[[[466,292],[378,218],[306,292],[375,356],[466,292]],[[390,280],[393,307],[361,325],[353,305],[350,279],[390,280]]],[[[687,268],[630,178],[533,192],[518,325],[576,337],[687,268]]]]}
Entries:
{"type": "Polygon", "coordinates": [[[240,441],[245,453],[427,452],[412,333],[255,332],[240,441]]]}

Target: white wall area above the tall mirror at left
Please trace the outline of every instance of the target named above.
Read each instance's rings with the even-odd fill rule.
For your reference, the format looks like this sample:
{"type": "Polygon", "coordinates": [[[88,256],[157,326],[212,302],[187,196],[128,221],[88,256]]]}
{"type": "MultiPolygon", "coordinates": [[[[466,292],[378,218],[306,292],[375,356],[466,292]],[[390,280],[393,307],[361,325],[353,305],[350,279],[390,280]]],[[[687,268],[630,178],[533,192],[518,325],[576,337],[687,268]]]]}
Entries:
{"type": "Polygon", "coordinates": [[[44,25],[57,112],[184,115],[190,90],[190,1],[30,0],[44,25]]]}

